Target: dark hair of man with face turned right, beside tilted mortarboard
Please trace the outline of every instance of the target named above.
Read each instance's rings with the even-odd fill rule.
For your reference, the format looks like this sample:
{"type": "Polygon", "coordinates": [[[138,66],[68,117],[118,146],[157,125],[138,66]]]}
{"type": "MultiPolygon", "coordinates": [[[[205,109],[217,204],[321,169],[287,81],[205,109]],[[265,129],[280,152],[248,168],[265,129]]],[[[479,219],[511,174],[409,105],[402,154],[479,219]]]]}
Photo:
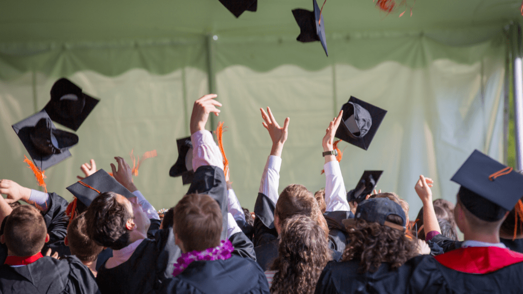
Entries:
{"type": "Polygon", "coordinates": [[[85,211],[87,235],[98,245],[120,250],[129,245],[126,223],[133,218],[125,203],[118,202],[116,193],[98,195],[85,211]]]}

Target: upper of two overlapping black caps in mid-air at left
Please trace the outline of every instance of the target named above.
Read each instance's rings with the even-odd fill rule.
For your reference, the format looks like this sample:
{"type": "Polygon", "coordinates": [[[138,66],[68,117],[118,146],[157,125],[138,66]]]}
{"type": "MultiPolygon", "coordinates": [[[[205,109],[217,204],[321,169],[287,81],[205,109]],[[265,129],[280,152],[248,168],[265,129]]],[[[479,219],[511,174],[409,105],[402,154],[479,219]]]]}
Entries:
{"type": "Polygon", "coordinates": [[[51,88],[51,100],[44,109],[51,120],[76,131],[98,101],[82,93],[82,89],[71,81],[61,78],[51,88]]]}

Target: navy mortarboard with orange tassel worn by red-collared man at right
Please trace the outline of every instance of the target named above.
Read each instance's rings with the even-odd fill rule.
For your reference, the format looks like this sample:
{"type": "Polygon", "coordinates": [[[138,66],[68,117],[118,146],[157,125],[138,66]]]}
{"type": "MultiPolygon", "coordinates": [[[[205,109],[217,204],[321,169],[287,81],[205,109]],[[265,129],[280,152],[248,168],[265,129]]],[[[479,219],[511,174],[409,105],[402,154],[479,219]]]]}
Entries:
{"type": "Polygon", "coordinates": [[[474,150],[451,178],[461,185],[459,200],[476,217],[497,221],[523,194],[523,175],[474,150]]]}

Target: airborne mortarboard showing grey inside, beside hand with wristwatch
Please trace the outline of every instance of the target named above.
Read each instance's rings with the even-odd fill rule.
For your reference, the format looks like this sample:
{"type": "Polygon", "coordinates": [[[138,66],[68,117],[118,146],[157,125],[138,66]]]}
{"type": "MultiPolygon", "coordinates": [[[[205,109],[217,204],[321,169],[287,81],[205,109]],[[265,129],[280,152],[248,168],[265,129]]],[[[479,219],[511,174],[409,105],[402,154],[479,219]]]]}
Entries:
{"type": "Polygon", "coordinates": [[[387,111],[353,96],[342,109],[336,137],[367,150],[387,111]]]}

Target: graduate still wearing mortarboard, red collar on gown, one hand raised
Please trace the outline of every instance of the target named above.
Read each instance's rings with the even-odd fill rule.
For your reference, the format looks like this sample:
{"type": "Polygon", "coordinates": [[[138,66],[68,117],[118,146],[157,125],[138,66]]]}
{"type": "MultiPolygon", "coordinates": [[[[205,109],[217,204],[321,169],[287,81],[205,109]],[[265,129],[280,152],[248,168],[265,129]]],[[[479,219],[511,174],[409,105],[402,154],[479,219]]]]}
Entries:
{"type": "MultiPolygon", "coordinates": [[[[501,225],[520,200],[523,175],[475,150],[451,179],[461,185],[454,218],[465,241],[456,250],[423,258],[410,278],[415,293],[522,293],[523,254],[499,238],[501,225]]],[[[416,184],[424,203],[427,239],[440,235],[426,180],[416,184]]]]}

